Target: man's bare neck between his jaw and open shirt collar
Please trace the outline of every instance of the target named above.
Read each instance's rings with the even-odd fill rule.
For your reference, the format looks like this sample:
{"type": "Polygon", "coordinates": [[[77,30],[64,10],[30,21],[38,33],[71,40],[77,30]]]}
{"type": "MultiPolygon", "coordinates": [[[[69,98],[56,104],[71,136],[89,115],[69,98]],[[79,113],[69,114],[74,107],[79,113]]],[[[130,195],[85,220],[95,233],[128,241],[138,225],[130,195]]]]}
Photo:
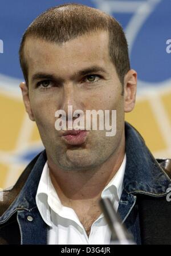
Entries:
{"type": "Polygon", "coordinates": [[[62,202],[98,200],[108,182],[123,162],[125,141],[103,164],[88,170],[62,170],[48,160],[50,177],[62,202]]]}

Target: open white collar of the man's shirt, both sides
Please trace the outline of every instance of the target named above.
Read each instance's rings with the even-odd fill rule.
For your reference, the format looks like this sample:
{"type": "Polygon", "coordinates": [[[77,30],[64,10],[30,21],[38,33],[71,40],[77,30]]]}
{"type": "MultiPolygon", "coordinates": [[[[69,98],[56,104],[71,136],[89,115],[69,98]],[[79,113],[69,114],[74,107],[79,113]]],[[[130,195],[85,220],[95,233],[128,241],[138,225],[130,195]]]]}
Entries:
{"type": "MultiPolygon", "coordinates": [[[[121,193],[123,192],[125,166],[126,154],[119,170],[116,172],[115,176],[113,176],[111,181],[109,181],[109,183],[105,186],[103,192],[101,193],[102,198],[108,197],[112,200],[113,206],[116,210],[119,204],[121,193]]],[[[75,211],[61,204],[58,194],[52,185],[47,162],[44,165],[42,175],[40,177],[35,199],[40,215],[48,226],[51,226],[51,210],[59,214],[59,216],[63,218],[69,218],[80,225],[75,211]]]]}

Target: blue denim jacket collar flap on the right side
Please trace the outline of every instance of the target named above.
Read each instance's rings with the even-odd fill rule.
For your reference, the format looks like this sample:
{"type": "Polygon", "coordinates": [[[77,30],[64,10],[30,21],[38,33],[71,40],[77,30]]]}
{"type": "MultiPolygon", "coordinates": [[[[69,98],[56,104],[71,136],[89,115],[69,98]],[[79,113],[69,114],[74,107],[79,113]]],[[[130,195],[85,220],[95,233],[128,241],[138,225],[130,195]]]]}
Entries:
{"type": "Polygon", "coordinates": [[[124,190],[128,194],[164,196],[171,180],[146,147],[140,133],[128,123],[125,123],[125,139],[127,164],[124,190]]]}

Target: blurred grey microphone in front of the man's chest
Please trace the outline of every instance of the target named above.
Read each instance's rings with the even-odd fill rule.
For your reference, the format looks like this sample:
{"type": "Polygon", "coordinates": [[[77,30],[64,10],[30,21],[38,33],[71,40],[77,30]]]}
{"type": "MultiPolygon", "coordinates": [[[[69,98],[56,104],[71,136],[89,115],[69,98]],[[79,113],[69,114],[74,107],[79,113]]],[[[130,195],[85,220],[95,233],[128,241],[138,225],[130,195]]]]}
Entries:
{"type": "Polygon", "coordinates": [[[105,220],[111,230],[111,244],[112,245],[136,245],[133,236],[125,226],[121,223],[119,214],[113,208],[112,202],[109,198],[101,198],[100,207],[104,213],[105,220]]]}

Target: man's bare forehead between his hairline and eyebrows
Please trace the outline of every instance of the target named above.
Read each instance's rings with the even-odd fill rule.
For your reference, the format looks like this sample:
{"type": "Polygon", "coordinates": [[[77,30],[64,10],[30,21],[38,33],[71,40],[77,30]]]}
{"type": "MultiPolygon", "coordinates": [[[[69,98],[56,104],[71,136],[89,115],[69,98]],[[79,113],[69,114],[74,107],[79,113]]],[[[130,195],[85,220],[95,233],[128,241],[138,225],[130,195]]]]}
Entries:
{"type": "Polygon", "coordinates": [[[106,66],[109,58],[108,33],[91,32],[62,44],[28,38],[24,47],[28,76],[32,72],[64,72],[88,67],[89,64],[106,66]]]}

